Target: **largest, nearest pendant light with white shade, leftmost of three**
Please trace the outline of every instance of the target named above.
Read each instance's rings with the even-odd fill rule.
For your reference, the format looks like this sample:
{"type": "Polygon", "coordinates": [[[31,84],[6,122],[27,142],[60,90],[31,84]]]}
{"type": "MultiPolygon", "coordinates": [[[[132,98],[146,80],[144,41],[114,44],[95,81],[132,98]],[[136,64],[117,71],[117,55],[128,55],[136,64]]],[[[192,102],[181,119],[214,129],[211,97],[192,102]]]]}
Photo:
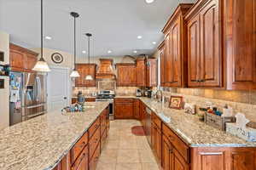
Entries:
{"type": "Polygon", "coordinates": [[[49,66],[43,57],[43,55],[44,55],[43,54],[43,42],[44,42],[43,36],[44,36],[43,35],[43,0],[41,0],[41,57],[32,70],[39,71],[39,72],[49,72],[50,71],[49,66]]]}

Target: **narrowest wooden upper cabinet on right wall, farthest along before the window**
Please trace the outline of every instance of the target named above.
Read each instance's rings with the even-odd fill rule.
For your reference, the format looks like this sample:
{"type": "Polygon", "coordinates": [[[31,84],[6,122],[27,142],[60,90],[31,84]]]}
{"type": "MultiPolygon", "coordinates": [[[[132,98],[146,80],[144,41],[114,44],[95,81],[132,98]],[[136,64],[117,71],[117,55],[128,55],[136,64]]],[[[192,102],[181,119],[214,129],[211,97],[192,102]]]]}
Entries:
{"type": "Polygon", "coordinates": [[[165,41],[161,42],[159,47],[159,55],[160,55],[160,85],[161,87],[165,87],[165,65],[166,65],[166,51],[165,51],[165,41]]]}

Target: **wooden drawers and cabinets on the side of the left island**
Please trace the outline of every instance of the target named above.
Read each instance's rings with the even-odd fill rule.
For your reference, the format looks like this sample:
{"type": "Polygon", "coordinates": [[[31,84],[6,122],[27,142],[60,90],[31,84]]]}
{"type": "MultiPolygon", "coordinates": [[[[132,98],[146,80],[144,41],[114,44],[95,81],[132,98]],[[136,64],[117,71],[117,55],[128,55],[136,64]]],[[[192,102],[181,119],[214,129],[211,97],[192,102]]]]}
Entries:
{"type": "Polygon", "coordinates": [[[108,130],[108,108],[106,108],[54,170],[95,170],[103,144],[108,137],[108,130]]]}

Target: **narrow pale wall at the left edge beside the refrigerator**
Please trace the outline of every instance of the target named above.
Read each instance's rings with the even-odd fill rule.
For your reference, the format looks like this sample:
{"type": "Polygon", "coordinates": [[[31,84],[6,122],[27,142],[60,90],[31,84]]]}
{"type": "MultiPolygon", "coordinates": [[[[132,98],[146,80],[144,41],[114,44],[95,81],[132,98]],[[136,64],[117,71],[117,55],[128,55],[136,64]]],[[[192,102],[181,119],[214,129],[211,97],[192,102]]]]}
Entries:
{"type": "MultiPolygon", "coordinates": [[[[9,34],[0,31],[0,50],[4,52],[4,62],[0,65],[9,65],[9,34]]],[[[0,89],[0,130],[9,127],[9,77],[4,78],[4,88],[0,89]]]]}

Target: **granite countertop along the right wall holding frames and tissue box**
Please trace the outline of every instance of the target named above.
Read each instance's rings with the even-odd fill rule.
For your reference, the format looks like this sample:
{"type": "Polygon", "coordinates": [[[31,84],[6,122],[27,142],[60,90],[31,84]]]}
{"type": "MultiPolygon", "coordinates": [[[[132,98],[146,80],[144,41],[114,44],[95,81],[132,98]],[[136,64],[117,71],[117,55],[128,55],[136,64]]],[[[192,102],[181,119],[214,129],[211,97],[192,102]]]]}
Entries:
{"type": "Polygon", "coordinates": [[[171,117],[171,122],[166,125],[190,147],[256,147],[256,142],[247,142],[230,133],[208,126],[205,122],[200,122],[197,116],[189,115],[184,110],[162,107],[155,99],[139,99],[160,118],[161,114],[171,117]]]}

